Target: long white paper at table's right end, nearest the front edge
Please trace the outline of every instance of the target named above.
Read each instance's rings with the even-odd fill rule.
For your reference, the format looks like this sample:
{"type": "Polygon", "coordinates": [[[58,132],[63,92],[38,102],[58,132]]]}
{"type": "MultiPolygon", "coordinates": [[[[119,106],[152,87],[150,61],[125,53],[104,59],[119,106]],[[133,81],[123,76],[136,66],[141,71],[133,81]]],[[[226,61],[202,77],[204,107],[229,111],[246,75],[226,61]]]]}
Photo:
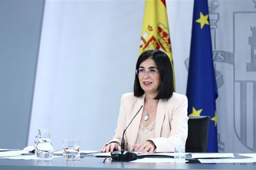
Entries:
{"type": "Polygon", "coordinates": [[[256,158],[246,159],[198,159],[201,163],[253,163],[256,158]]]}

